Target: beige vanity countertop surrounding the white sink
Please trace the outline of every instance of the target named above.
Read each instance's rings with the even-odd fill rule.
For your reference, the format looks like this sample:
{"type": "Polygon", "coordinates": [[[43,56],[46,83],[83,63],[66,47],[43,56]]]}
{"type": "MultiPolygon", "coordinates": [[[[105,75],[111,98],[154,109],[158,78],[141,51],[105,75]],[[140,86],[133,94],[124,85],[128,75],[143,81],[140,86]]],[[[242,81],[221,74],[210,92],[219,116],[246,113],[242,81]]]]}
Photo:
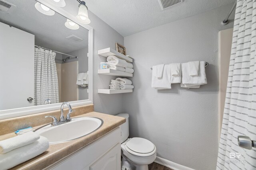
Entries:
{"type": "MultiPolygon", "coordinates": [[[[44,168],[48,167],[49,165],[54,164],[58,160],[75,152],[76,150],[89,145],[96,139],[102,137],[103,135],[112,131],[116,127],[122,125],[126,121],[125,118],[123,118],[123,117],[108,115],[108,114],[104,114],[104,113],[98,113],[95,111],[90,112],[90,113],[85,113],[82,115],[78,115],[75,117],[85,117],[85,116],[98,117],[98,118],[102,119],[104,121],[104,123],[103,123],[102,127],[100,127],[100,129],[98,129],[94,133],[91,133],[85,137],[81,137],[79,139],[74,139],[72,141],[68,141],[65,143],[50,145],[48,150],[46,150],[43,154],[40,154],[40,155],[36,156],[35,158],[32,158],[26,162],[23,162],[22,164],[19,164],[15,167],[11,168],[11,170],[44,169],[44,168]]],[[[37,129],[38,127],[41,127],[41,126],[42,125],[33,127],[33,129],[37,129]]],[[[8,139],[10,137],[14,137],[14,136],[16,136],[15,133],[1,135],[0,141],[4,140],[4,139],[8,139]]]]}

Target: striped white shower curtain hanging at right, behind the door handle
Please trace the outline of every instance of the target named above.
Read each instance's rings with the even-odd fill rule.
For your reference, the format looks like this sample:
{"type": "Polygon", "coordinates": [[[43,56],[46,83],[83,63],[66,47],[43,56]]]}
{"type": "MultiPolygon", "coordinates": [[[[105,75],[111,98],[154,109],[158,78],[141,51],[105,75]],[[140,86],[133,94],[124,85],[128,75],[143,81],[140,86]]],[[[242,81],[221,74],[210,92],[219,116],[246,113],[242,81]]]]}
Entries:
{"type": "Polygon", "coordinates": [[[255,49],[256,0],[238,0],[217,170],[256,169],[256,148],[243,149],[237,140],[239,135],[256,140],[255,49]]]}

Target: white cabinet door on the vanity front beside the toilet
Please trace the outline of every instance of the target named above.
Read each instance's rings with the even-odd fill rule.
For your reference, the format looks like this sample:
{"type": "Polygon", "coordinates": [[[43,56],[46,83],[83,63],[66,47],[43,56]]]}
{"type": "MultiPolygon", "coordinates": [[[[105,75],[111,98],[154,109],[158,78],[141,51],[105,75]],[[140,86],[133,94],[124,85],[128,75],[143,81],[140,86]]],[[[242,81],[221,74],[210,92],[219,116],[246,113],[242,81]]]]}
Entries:
{"type": "Polygon", "coordinates": [[[94,164],[90,166],[90,170],[120,170],[121,169],[121,153],[120,144],[104,154],[94,164]]]}

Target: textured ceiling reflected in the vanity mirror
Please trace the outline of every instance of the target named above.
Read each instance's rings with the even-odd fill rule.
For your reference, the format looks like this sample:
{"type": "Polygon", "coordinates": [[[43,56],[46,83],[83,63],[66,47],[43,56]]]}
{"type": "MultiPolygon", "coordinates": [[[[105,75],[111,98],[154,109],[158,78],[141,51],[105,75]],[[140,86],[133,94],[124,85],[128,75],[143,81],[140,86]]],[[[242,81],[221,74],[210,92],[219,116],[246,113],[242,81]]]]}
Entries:
{"type": "MultiPolygon", "coordinates": [[[[56,13],[46,16],[35,8],[35,0],[6,0],[16,8],[10,14],[0,11],[0,21],[35,35],[35,45],[62,53],[68,53],[88,46],[88,30],[80,27],[68,29],[66,18],[56,13]],[[73,42],[66,37],[76,35],[84,40],[73,42]]],[[[75,0],[74,0],[75,1],[75,0]]]]}

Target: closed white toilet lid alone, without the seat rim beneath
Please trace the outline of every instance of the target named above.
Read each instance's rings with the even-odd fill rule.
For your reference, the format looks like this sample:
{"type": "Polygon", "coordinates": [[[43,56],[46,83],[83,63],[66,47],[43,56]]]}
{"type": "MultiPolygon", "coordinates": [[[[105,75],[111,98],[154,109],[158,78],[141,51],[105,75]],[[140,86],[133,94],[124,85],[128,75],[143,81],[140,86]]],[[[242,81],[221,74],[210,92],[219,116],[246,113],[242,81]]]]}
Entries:
{"type": "Polygon", "coordinates": [[[126,143],[126,146],[130,150],[142,154],[153,152],[155,149],[155,145],[152,142],[140,137],[130,139],[130,141],[126,143]]]}

